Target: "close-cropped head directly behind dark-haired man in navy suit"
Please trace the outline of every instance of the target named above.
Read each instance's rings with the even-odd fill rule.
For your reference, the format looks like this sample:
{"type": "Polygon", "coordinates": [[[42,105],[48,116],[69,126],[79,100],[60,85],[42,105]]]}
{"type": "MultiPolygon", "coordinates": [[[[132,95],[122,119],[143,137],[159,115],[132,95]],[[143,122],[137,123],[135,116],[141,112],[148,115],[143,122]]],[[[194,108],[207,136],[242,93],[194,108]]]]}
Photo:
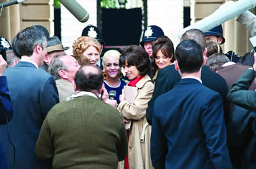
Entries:
{"type": "Polygon", "coordinates": [[[202,48],[202,53],[205,50],[205,35],[199,29],[189,29],[184,34],[182,34],[180,41],[184,40],[194,40],[198,43],[202,48]]]}

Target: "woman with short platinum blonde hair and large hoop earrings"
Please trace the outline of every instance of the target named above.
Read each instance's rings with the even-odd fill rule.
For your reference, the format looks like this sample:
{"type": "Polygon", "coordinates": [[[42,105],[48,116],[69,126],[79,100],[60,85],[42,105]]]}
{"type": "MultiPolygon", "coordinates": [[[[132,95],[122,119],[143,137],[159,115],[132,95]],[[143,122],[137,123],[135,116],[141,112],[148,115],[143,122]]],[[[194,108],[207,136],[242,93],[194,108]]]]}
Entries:
{"type": "Polygon", "coordinates": [[[120,52],[117,50],[108,50],[103,55],[102,66],[103,66],[103,76],[104,85],[109,93],[109,91],[116,91],[115,100],[119,104],[119,96],[122,94],[122,89],[126,85],[121,79],[122,72],[119,65],[120,52]]]}

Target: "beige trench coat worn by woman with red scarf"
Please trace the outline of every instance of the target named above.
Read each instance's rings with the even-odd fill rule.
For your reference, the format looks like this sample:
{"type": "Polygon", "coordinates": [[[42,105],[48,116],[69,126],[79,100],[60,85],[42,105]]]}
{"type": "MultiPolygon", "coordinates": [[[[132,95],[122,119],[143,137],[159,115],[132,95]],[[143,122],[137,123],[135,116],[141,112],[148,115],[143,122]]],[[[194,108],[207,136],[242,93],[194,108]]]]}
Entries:
{"type": "MultiPolygon", "coordinates": [[[[117,110],[126,118],[132,120],[129,136],[129,169],[152,169],[150,158],[151,126],[147,125],[146,109],[148,101],[152,98],[154,84],[148,75],[141,78],[135,85],[138,92],[133,103],[122,101],[117,110]],[[145,134],[141,135],[145,126],[145,134]],[[140,139],[144,136],[144,140],[140,139]]],[[[118,169],[124,169],[124,161],[118,163],[118,169]]]]}

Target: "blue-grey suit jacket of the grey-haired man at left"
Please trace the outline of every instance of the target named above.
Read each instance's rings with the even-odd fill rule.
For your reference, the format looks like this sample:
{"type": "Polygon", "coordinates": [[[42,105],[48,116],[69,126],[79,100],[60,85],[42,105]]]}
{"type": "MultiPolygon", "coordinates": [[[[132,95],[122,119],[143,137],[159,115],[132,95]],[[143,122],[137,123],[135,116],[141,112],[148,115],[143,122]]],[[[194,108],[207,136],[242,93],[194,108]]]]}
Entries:
{"type": "MultiPolygon", "coordinates": [[[[47,112],[59,102],[54,77],[37,70],[30,62],[20,61],[4,71],[12,98],[13,119],[9,124],[10,138],[16,148],[16,168],[51,168],[35,156],[35,143],[47,112]]],[[[1,143],[8,168],[13,168],[13,148],[1,126],[1,143]]]]}

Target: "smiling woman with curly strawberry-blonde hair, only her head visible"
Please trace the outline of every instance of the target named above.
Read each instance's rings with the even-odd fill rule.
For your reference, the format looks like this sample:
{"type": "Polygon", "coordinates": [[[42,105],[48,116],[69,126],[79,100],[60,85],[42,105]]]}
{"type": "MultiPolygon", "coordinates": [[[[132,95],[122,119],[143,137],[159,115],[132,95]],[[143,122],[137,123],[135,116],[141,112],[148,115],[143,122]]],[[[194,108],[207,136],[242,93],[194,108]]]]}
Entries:
{"type": "Polygon", "coordinates": [[[73,43],[73,55],[81,66],[92,64],[97,66],[100,59],[101,46],[99,41],[90,36],[81,36],[73,43]]]}

